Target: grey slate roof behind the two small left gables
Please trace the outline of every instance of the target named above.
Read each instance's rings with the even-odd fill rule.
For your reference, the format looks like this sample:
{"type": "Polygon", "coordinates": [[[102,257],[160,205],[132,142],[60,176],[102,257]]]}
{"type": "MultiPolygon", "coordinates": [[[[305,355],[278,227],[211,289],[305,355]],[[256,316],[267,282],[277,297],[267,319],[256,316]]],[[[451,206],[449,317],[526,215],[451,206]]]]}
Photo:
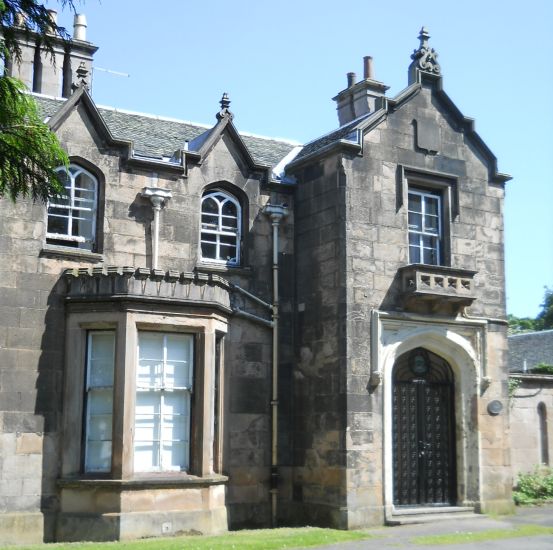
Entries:
{"type": "MultiPolygon", "coordinates": [[[[65,101],[39,95],[35,99],[45,118],[53,116],[65,101]]],[[[135,153],[149,158],[172,157],[175,151],[184,148],[185,141],[192,141],[211,129],[210,126],[153,115],[97,108],[115,138],[132,141],[135,153]]],[[[241,137],[255,162],[268,166],[277,165],[297,146],[293,142],[248,134],[241,134],[241,137]]]]}

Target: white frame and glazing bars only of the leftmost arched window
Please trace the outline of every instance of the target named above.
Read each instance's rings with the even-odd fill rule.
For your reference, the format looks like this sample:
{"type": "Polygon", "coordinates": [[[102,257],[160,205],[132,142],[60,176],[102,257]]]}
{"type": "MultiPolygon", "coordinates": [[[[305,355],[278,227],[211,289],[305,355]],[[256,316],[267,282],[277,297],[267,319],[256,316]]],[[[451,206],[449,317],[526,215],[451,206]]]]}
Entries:
{"type": "Polygon", "coordinates": [[[56,203],[55,199],[48,201],[47,207],[47,220],[46,220],[46,239],[56,240],[56,241],[66,241],[67,246],[72,248],[81,248],[86,250],[93,250],[95,245],[96,237],[96,217],[98,211],[98,179],[91,174],[88,170],[85,170],[82,166],[78,164],[70,164],[68,168],[61,166],[56,169],[56,172],[65,172],[68,177],[68,182],[65,186],[67,191],[67,197],[69,199],[69,204],[56,203]],[[82,199],[75,196],[75,191],[79,190],[76,187],[76,179],[80,174],[88,176],[94,183],[93,197],[92,199],[82,199]],[[66,210],[67,215],[53,214],[51,209],[57,208],[60,210],[66,210]],[[89,213],[90,218],[90,234],[88,235],[79,235],[73,234],[73,220],[79,212],[89,213]],[[50,217],[58,217],[67,219],[67,233],[49,233],[48,232],[48,220],[50,217]]]}

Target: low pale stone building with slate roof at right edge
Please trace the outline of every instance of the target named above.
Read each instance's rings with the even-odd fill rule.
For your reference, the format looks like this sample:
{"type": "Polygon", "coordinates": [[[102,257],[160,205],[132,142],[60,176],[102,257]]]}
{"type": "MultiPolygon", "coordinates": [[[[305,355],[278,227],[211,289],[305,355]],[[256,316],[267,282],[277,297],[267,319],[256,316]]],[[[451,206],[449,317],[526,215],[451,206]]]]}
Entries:
{"type": "Polygon", "coordinates": [[[511,461],[518,474],[553,465],[553,374],[533,372],[539,364],[553,368],[553,330],[512,334],[508,340],[511,461]]]}

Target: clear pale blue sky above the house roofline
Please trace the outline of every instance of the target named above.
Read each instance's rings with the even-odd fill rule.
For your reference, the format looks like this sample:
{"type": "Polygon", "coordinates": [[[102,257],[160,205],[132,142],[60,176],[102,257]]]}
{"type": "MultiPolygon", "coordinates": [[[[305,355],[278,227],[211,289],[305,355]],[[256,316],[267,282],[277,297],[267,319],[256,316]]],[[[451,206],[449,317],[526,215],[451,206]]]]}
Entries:
{"type": "MultiPolygon", "coordinates": [[[[48,6],[56,9],[53,0],[48,6]]],[[[100,47],[97,103],[211,124],[228,92],[237,127],[306,142],[337,126],[346,73],[395,95],[425,25],[444,88],[513,176],[505,203],[507,310],[535,316],[553,287],[553,2],[550,0],[87,0],[100,47]]],[[[60,13],[71,27],[70,13],[60,13]]]]}

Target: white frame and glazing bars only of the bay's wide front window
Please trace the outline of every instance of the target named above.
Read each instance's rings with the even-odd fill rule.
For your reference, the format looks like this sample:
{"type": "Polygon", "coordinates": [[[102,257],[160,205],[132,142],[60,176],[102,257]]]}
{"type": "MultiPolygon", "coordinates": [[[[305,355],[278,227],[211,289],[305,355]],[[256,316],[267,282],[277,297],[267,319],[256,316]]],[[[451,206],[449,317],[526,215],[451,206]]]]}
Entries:
{"type": "MultiPolygon", "coordinates": [[[[138,466],[136,458],[134,460],[134,471],[135,472],[167,472],[167,471],[188,471],[190,469],[190,457],[191,457],[191,442],[192,442],[192,394],[193,394],[193,383],[194,383],[194,336],[190,333],[181,333],[181,332],[158,332],[158,331],[148,331],[148,330],[139,330],[138,331],[138,338],[137,338],[137,369],[136,369],[136,377],[135,377],[135,392],[136,392],[136,401],[138,403],[138,394],[139,392],[144,393],[150,393],[154,395],[159,396],[159,427],[158,427],[158,433],[159,437],[158,439],[152,440],[152,444],[157,443],[157,465],[155,466],[152,464],[151,467],[148,468],[141,468],[138,466]],[[160,369],[160,375],[161,375],[161,384],[160,385],[145,385],[142,384],[139,380],[139,363],[141,361],[141,353],[140,353],[140,339],[141,336],[144,334],[155,334],[156,336],[161,336],[163,341],[163,359],[159,365],[156,365],[156,368],[160,369]],[[185,336],[189,338],[189,348],[188,348],[188,357],[187,360],[189,362],[189,369],[188,369],[188,379],[185,381],[184,386],[175,386],[167,384],[166,381],[166,367],[167,367],[167,337],[168,336],[185,336]],[[168,439],[164,438],[164,421],[165,418],[168,416],[167,413],[165,413],[165,399],[166,395],[168,393],[176,394],[179,393],[184,397],[187,397],[184,399],[185,401],[185,407],[187,405],[187,409],[184,410],[184,415],[187,418],[188,425],[186,426],[185,430],[185,439],[178,440],[180,443],[184,443],[185,456],[181,457],[182,460],[182,467],[175,467],[172,465],[168,465],[164,463],[164,453],[163,448],[167,445],[169,442],[168,439]]],[[[136,407],[136,406],[135,406],[136,407]]],[[[142,415],[144,416],[144,415],[142,415]]],[[[137,421],[138,421],[138,412],[135,410],[135,438],[133,442],[133,452],[136,452],[136,447],[138,443],[138,439],[136,438],[137,433],[137,421]]],[[[140,440],[141,442],[145,442],[146,440],[140,440]]],[[[148,440],[150,441],[150,440],[148,440]]],[[[173,442],[175,440],[171,440],[173,442]]],[[[156,461],[152,461],[155,463],[156,461]]]]}

